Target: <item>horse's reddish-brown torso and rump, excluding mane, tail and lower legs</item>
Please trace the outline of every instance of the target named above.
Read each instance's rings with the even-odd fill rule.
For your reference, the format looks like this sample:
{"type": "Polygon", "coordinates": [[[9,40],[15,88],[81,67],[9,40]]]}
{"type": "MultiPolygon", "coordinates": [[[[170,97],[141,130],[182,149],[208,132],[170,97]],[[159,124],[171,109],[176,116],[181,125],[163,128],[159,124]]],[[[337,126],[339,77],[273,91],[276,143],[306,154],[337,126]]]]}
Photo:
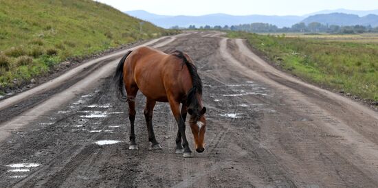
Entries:
{"type": "Polygon", "coordinates": [[[182,60],[175,56],[151,47],[140,47],[130,54],[124,66],[128,72],[127,80],[135,82],[148,98],[168,102],[168,91],[183,91],[180,82],[183,80],[182,72],[186,71],[186,67],[183,66],[182,60]]]}

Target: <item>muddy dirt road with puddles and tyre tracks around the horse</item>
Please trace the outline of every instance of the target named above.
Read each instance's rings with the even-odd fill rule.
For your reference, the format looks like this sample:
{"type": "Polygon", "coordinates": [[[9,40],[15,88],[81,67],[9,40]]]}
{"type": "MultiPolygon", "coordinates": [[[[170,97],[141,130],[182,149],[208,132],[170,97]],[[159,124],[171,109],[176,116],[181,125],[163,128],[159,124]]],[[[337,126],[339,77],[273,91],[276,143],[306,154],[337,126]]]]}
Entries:
{"type": "Polygon", "coordinates": [[[164,103],[153,117],[163,150],[148,150],[141,93],[139,150],[128,150],[128,107],[111,85],[120,57],[112,56],[0,103],[0,187],[378,187],[377,112],[278,71],[217,32],[148,45],[185,51],[197,64],[205,152],[175,154],[177,124],[164,103]]]}

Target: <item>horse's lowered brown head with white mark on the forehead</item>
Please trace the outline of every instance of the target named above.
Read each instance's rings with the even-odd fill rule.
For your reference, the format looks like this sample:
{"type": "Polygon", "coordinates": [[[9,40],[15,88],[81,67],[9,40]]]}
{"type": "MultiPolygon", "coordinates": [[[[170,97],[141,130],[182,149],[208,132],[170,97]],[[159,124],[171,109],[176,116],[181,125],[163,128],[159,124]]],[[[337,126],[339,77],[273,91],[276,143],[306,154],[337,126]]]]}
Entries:
{"type": "Polygon", "coordinates": [[[190,128],[194,136],[194,142],[196,144],[196,151],[201,153],[205,150],[203,147],[203,141],[205,141],[206,132],[206,119],[204,114],[206,113],[206,108],[196,108],[188,109],[190,115],[190,128]]]}

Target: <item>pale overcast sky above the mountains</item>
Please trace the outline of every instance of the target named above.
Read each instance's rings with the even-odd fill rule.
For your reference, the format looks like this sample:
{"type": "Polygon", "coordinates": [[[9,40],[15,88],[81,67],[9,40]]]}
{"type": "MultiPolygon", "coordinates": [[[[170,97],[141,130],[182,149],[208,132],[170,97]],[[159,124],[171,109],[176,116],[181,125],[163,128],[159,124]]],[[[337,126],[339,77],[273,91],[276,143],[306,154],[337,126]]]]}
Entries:
{"type": "Polygon", "coordinates": [[[97,0],[118,10],[146,10],[155,14],[199,16],[212,13],[234,15],[303,15],[319,10],[378,9],[378,0],[97,0]]]}

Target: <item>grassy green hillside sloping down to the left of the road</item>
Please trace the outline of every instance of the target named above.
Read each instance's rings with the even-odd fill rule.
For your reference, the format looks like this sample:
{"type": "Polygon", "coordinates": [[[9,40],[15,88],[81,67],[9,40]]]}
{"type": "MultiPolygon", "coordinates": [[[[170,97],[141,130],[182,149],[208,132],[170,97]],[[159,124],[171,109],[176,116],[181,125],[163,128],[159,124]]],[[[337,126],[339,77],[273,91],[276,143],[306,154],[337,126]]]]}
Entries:
{"type": "Polygon", "coordinates": [[[91,0],[0,0],[0,92],[68,57],[169,34],[91,0]]]}

